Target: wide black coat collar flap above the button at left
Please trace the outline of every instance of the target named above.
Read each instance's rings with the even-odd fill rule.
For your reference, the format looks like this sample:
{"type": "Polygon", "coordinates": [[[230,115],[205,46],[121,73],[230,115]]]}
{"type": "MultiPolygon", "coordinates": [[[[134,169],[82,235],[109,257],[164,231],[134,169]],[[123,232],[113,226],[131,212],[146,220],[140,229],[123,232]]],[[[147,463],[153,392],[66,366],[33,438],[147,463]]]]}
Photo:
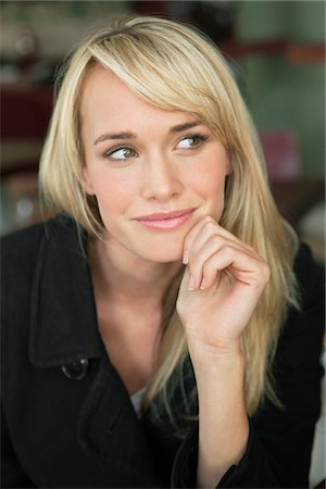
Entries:
{"type": "Polygon", "coordinates": [[[34,365],[63,365],[105,352],[98,330],[86,238],[67,217],[43,225],[30,299],[29,356],[34,365]]]}

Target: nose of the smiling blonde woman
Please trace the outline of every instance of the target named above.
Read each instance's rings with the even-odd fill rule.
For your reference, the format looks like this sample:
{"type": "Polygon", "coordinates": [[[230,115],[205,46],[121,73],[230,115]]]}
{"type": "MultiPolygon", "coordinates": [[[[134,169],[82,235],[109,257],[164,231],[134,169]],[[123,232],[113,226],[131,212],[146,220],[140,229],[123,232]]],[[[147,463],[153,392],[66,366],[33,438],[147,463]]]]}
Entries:
{"type": "Polygon", "coordinates": [[[147,200],[166,201],[181,193],[183,185],[176,163],[155,154],[143,165],[142,196],[147,200]]]}

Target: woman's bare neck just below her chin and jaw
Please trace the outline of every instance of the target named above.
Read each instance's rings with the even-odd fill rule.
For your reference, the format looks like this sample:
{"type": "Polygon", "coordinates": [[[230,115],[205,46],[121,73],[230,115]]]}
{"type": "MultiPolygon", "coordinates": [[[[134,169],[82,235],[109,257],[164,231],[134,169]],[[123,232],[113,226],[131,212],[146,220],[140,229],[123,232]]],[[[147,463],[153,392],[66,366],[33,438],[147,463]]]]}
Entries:
{"type": "Polygon", "coordinates": [[[179,262],[143,260],[114,242],[90,240],[89,258],[95,283],[118,303],[141,302],[160,308],[168,284],[180,269],[179,262]]]}

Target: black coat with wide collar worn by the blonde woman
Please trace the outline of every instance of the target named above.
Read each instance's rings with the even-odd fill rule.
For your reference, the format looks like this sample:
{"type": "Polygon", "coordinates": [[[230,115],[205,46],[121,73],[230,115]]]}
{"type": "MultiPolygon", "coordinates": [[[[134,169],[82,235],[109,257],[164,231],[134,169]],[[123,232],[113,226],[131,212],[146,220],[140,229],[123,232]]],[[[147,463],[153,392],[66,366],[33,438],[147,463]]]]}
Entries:
{"type": "MultiPolygon", "coordinates": [[[[2,487],[193,487],[198,426],[179,440],[137,417],[98,333],[75,224],[16,233],[2,252],[2,487]]],[[[302,312],[289,312],[274,365],[285,408],[266,402],[250,419],[247,451],[218,487],[308,487],[324,293],[304,246],[294,269],[302,312]]]]}

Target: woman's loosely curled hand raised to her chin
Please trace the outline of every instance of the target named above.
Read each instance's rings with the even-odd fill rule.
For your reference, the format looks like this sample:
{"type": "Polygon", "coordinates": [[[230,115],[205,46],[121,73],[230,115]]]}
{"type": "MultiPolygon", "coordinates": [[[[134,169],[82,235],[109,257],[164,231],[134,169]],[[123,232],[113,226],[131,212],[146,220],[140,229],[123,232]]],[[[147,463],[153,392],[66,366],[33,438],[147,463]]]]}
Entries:
{"type": "MultiPolygon", "coordinates": [[[[189,350],[238,348],[269,278],[265,261],[210,216],[200,220],[184,244],[187,265],[177,299],[189,350]]],[[[191,354],[191,351],[190,351],[191,354]]]]}

